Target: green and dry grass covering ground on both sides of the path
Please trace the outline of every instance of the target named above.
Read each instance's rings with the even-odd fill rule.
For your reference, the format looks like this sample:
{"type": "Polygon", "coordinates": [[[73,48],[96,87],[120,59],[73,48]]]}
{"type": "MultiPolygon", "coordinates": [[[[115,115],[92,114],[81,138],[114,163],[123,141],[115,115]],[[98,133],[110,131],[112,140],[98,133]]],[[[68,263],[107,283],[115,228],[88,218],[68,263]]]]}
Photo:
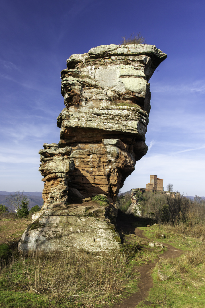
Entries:
{"type": "MultiPolygon", "coordinates": [[[[146,225],[147,221],[136,221],[136,224],[146,225]]],[[[14,230],[15,225],[12,228],[14,230]]],[[[146,298],[151,302],[149,306],[205,307],[205,248],[202,237],[194,238],[187,233],[184,235],[178,227],[168,225],[153,225],[140,229],[144,230],[144,235],[152,241],[162,241],[184,250],[184,255],[177,259],[161,261],[162,272],[170,277],[169,280],[158,281],[157,267],[155,268],[152,275],[153,288],[146,298]],[[160,239],[159,233],[163,233],[165,238],[160,239]]],[[[12,232],[15,233],[10,233],[12,232]]],[[[53,254],[48,259],[47,255],[25,255],[21,258],[15,249],[13,255],[10,252],[7,254],[12,247],[2,244],[0,253],[2,256],[7,254],[8,257],[1,258],[0,307],[74,308],[87,307],[86,305],[89,307],[90,304],[94,307],[103,307],[105,304],[112,307],[114,302],[138,291],[140,279],[137,267],[156,260],[156,256],[166,250],[164,248],[163,251],[157,252],[156,248],[151,249],[149,246],[138,249],[141,240],[142,238],[127,232],[124,234],[124,242],[128,246],[124,253],[113,254],[111,260],[82,252],[72,252],[71,256],[53,254]],[[146,247],[149,250],[146,250],[146,247]],[[128,255],[129,253],[131,255],[128,255]],[[99,277],[100,281],[94,288],[92,283],[99,277]],[[63,285],[60,285],[61,280],[63,285]],[[56,287],[58,284],[59,290],[56,287]]],[[[142,302],[137,307],[148,306],[142,302]]]]}

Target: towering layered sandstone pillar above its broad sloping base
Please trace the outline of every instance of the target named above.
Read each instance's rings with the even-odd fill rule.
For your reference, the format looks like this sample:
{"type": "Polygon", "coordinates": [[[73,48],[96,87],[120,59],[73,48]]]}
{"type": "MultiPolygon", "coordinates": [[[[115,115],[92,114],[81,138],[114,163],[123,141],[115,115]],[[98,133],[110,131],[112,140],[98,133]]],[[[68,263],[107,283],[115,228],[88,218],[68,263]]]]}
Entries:
{"type": "MultiPolygon", "coordinates": [[[[147,152],[145,133],[151,97],[148,81],[166,57],[152,45],[102,45],[67,60],[67,69],[61,72],[65,108],[57,118],[60,141],[44,144],[39,152],[44,205],[40,216],[34,218],[41,221],[42,228],[51,228],[45,220],[48,223],[50,217],[50,224],[50,213],[54,215],[54,211],[58,224],[65,224],[64,215],[85,217],[86,206],[81,205],[81,214],[77,209],[71,214],[74,212],[68,209],[70,203],[80,204],[96,194],[115,202],[136,160],[147,152]],[[60,216],[64,217],[61,222],[60,216]]],[[[95,212],[94,208],[91,212],[95,212]]],[[[103,217],[113,222],[111,216],[106,216],[104,209],[103,217]]],[[[29,229],[26,232],[20,247],[33,236],[29,229]]],[[[26,245],[34,247],[31,242],[26,245]]]]}

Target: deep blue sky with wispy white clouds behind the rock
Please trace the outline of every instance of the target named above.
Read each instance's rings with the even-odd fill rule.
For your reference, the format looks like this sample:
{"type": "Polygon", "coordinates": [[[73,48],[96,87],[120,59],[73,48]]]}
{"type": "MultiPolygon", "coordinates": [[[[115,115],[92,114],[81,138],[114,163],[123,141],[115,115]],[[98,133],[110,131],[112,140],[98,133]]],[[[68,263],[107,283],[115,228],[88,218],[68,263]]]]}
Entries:
{"type": "Polygon", "coordinates": [[[140,32],[168,54],[150,79],[149,151],[122,191],[164,188],[205,196],[204,1],[7,0],[0,10],[0,190],[41,191],[42,144],[58,143],[66,59],[140,32]]]}

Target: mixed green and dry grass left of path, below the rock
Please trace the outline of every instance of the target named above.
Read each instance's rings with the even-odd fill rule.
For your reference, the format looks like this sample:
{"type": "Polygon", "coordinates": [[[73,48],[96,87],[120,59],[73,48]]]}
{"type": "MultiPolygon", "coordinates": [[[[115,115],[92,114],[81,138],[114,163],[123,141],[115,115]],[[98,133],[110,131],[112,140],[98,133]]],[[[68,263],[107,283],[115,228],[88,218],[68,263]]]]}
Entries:
{"type": "MultiPolygon", "coordinates": [[[[1,262],[0,291],[13,303],[8,307],[112,304],[138,283],[127,255],[114,252],[101,258],[77,251],[23,255],[14,251],[1,262]]],[[[6,303],[2,300],[0,306],[7,307],[6,303]]]]}

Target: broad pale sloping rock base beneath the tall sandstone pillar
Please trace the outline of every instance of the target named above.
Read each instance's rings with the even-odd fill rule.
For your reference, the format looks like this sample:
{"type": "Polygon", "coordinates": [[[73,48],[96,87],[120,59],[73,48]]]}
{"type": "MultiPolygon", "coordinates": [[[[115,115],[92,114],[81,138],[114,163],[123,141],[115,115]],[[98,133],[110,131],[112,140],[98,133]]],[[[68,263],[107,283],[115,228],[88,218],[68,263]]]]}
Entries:
{"type": "Polygon", "coordinates": [[[18,249],[54,252],[74,247],[95,253],[120,249],[116,216],[117,209],[111,204],[101,206],[95,201],[67,207],[58,204],[52,211],[34,213],[18,249]]]}

